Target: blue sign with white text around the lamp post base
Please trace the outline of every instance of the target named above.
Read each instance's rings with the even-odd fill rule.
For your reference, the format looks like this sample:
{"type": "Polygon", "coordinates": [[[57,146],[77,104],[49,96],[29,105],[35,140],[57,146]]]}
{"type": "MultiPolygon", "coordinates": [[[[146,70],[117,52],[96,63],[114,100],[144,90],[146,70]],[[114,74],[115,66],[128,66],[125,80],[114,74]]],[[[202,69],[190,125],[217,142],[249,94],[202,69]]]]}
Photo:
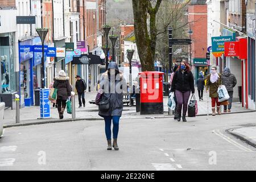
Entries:
{"type": "Polygon", "coordinates": [[[51,117],[50,102],[49,102],[49,89],[40,89],[40,117],[51,117]]]}

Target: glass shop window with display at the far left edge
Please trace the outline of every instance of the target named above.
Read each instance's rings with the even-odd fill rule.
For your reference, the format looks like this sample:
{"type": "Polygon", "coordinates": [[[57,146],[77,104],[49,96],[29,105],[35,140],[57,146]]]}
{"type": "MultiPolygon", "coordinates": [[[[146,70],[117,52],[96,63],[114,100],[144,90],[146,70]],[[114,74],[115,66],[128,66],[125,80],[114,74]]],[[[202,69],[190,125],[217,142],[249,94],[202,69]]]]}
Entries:
{"type": "Polygon", "coordinates": [[[6,107],[13,107],[13,95],[16,93],[14,32],[0,34],[0,96],[6,107]]]}

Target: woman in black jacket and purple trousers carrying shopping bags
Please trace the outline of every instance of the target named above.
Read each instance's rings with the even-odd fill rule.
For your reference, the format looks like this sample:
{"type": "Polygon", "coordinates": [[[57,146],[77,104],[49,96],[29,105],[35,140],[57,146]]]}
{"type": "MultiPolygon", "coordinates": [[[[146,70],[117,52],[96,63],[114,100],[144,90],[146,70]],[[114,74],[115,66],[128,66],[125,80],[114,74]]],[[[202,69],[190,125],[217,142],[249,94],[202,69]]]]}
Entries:
{"type": "Polygon", "coordinates": [[[188,110],[189,96],[191,92],[195,93],[193,73],[187,61],[182,61],[179,70],[175,72],[171,92],[175,92],[177,98],[177,121],[180,121],[183,106],[182,120],[187,122],[185,116],[188,110]]]}

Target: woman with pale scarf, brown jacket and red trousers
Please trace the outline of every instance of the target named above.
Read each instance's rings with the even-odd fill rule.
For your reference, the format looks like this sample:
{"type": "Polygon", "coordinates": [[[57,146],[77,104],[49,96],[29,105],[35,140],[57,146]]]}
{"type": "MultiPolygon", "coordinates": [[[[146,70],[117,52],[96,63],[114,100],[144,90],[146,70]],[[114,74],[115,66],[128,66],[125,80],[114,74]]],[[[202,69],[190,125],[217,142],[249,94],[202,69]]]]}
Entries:
{"type": "Polygon", "coordinates": [[[218,102],[218,87],[221,85],[221,75],[217,73],[217,67],[212,67],[212,73],[207,75],[206,90],[209,92],[209,97],[212,98],[212,115],[216,115],[215,106],[217,105],[217,113],[221,114],[220,102],[218,102]]]}

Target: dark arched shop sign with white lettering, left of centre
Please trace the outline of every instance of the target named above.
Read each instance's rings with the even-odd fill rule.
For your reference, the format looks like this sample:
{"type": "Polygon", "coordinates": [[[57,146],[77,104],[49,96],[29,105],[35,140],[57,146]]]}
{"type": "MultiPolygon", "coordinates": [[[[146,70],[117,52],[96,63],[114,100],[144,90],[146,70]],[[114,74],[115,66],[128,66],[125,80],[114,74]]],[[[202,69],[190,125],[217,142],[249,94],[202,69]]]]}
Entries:
{"type": "Polygon", "coordinates": [[[96,55],[81,55],[79,57],[73,57],[72,64],[102,64],[103,60],[100,56],[96,55]]]}

